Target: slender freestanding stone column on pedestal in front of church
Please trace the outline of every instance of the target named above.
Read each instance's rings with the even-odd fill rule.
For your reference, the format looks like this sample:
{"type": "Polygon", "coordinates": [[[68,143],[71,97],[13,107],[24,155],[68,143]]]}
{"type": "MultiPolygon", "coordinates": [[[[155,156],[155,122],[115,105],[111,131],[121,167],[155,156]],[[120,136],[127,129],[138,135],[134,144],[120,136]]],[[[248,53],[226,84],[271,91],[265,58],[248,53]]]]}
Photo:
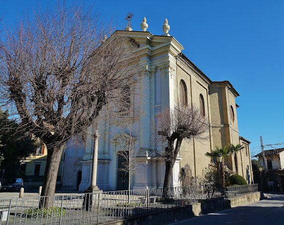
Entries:
{"type": "Polygon", "coordinates": [[[100,191],[97,186],[97,169],[98,169],[98,146],[99,146],[99,132],[96,130],[94,134],[94,148],[93,148],[93,160],[92,160],[92,175],[91,175],[91,185],[87,191],[100,191]]]}

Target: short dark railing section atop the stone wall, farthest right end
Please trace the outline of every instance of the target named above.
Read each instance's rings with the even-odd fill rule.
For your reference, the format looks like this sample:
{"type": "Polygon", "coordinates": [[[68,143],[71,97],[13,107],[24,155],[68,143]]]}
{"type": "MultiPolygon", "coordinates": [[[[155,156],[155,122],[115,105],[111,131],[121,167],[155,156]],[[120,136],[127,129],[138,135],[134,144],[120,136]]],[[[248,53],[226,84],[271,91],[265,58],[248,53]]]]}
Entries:
{"type": "Polygon", "coordinates": [[[239,185],[226,187],[226,198],[234,198],[241,195],[246,195],[260,190],[259,184],[239,185]]]}

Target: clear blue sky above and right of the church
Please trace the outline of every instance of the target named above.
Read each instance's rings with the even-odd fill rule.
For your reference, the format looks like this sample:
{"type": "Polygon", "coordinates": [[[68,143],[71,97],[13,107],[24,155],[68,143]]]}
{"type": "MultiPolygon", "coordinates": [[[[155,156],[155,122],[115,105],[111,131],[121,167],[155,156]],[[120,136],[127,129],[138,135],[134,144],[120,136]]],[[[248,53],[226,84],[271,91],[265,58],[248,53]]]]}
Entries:
{"type": "MultiPolygon", "coordinates": [[[[55,0],[2,1],[0,15],[8,25],[38,3],[55,0]]],[[[66,0],[67,4],[72,3],[66,0]]],[[[264,144],[284,142],[284,1],[283,0],[86,0],[102,17],[140,30],[147,18],[152,34],[161,35],[164,18],[183,53],[211,80],[229,80],[240,93],[236,103],[240,135],[251,140],[252,155],[264,144]]],[[[278,145],[275,147],[284,147],[278,145]]],[[[267,148],[268,149],[268,148],[267,148]]]]}

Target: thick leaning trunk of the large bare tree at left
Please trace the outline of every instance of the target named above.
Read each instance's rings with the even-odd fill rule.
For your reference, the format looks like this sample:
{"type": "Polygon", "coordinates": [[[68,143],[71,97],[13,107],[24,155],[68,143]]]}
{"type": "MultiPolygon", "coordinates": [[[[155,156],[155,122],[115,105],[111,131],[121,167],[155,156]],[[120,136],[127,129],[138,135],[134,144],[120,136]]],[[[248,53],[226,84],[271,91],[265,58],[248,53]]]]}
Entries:
{"type": "MultiPolygon", "coordinates": [[[[51,148],[47,150],[47,159],[42,183],[41,196],[54,196],[57,173],[64,146],[65,143],[61,144],[59,147],[54,147],[53,149],[51,148]]],[[[53,197],[42,198],[40,201],[40,207],[51,207],[52,199],[53,197]]]]}

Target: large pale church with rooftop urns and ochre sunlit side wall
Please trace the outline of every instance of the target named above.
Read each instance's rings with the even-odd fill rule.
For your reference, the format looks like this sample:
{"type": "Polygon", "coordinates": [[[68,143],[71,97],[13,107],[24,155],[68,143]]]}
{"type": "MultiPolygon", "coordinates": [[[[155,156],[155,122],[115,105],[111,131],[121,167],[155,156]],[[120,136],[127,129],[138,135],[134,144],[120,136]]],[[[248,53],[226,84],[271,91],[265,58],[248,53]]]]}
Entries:
{"type": "MultiPolygon", "coordinates": [[[[239,93],[229,81],[212,81],[197,68],[183,53],[183,46],[168,32],[170,26],[167,19],[162,25],[163,34],[153,35],[146,31],[148,25],[144,18],[142,31],[134,31],[128,25],[125,30],[117,30],[114,35],[128,36],[138,43],[140,64],[145,68],[143,82],[147,85],[140,93],[148,101],[138,108],[143,112],[137,121],[138,135],[135,137],[134,150],[139,172],[128,174],[120,170],[122,158],[121,139],[129,134],[118,123],[107,116],[100,121],[98,127],[98,160],[97,186],[103,191],[160,188],[163,186],[164,162],[157,160],[153,152],[161,148],[152,129],[155,119],[162,109],[173,109],[182,100],[185,104],[200,108],[203,116],[208,118],[210,128],[207,139],[190,139],[183,141],[179,155],[173,167],[171,185],[180,185],[180,171],[188,164],[192,176],[198,177],[210,164],[206,152],[230,143],[241,144],[245,148],[238,152],[239,175],[248,184],[253,183],[250,155],[250,141],[239,136],[236,98],[239,93]]],[[[127,116],[130,112],[122,112],[127,116]]],[[[92,171],[92,154],[94,137],[97,128],[89,127],[89,135],[85,143],[67,145],[64,151],[62,189],[84,191],[90,186],[92,171]]],[[[228,156],[225,165],[236,170],[234,157],[228,156]]]]}

